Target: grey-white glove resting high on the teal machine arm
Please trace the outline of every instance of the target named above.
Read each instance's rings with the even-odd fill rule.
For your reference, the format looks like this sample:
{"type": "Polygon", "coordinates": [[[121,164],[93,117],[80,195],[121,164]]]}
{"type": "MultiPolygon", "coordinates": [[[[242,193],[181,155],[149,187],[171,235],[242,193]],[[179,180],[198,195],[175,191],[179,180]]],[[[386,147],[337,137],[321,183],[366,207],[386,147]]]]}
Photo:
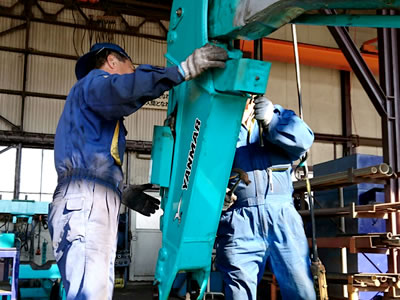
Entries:
{"type": "Polygon", "coordinates": [[[225,68],[228,53],[225,49],[206,44],[193,51],[185,61],[181,63],[185,80],[196,78],[209,68],[225,68]]]}

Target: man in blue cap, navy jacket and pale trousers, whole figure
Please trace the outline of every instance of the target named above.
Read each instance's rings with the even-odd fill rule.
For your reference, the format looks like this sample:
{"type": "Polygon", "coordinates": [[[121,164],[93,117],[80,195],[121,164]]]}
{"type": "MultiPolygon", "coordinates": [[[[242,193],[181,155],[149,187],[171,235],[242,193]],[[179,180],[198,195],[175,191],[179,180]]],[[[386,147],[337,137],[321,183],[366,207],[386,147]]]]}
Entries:
{"type": "MultiPolygon", "coordinates": [[[[141,65],[135,70],[120,46],[97,43],[78,59],[78,81],[55,135],[58,185],[49,207],[54,255],[68,300],[112,299],[124,117],[181,82],[224,67],[227,58],[224,49],[207,44],[179,66],[141,65]]],[[[131,199],[130,207],[144,215],[159,207],[159,202],[138,199],[140,203],[131,199]]]]}

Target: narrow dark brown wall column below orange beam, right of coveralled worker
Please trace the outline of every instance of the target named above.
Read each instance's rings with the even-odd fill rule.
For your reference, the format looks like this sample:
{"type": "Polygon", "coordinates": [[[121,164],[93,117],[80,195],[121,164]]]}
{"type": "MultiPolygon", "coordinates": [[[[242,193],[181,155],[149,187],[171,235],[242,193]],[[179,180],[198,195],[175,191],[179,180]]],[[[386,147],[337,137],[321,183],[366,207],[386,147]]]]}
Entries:
{"type": "MultiPolygon", "coordinates": [[[[351,137],[353,134],[351,122],[351,77],[350,72],[340,71],[340,92],[342,102],[342,135],[351,137]]],[[[343,156],[354,153],[353,143],[347,141],[343,143],[343,156]]]]}

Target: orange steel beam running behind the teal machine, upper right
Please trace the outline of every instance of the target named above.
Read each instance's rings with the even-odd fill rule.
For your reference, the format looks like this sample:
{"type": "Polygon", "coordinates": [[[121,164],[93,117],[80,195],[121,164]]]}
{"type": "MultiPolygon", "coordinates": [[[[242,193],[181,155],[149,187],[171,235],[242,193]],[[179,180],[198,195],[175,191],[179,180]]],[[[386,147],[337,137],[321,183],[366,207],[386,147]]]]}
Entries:
{"type": "MultiPolygon", "coordinates": [[[[253,41],[241,41],[240,48],[243,52],[253,54],[253,41]]],[[[340,49],[299,44],[300,63],[307,66],[351,71],[340,49]]],[[[372,73],[379,74],[378,55],[362,54],[372,73]]],[[[263,39],[263,60],[279,61],[284,63],[294,63],[293,43],[263,39]]]]}

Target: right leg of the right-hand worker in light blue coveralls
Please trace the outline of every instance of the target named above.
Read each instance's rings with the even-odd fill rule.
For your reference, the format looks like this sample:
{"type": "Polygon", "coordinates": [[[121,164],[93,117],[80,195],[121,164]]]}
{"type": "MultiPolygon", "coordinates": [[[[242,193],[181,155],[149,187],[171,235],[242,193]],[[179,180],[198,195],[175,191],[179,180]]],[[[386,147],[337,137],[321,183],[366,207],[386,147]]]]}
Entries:
{"type": "Polygon", "coordinates": [[[314,300],[308,243],[303,221],[291,201],[268,201],[269,263],[283,299],[314,300]]]}

